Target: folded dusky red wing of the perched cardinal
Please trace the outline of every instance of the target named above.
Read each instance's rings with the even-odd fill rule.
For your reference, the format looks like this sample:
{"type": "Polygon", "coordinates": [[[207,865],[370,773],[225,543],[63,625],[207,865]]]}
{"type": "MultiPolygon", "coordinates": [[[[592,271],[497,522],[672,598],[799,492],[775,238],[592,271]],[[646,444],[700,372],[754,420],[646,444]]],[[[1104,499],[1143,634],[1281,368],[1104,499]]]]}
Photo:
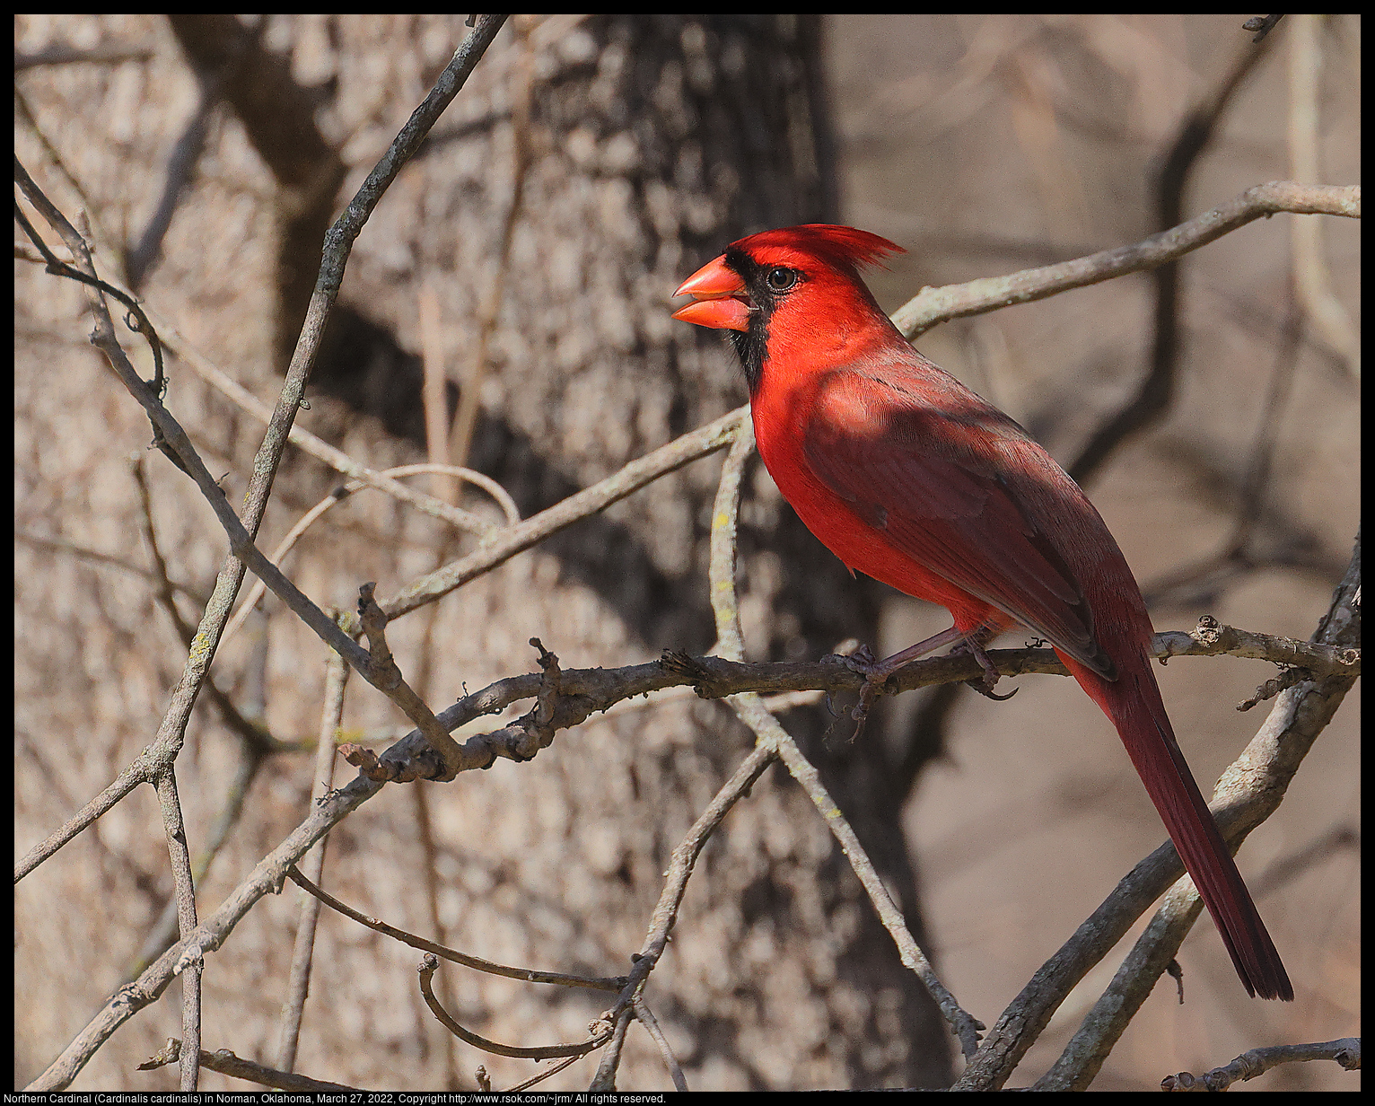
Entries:
{"type": "MultiPolygon", "coordinates": [[[[961,415],[997,420],[1002,425],[993,429],[1004,442],[1022,439],[1016,424],[982,400],[961,415]]],[[[818,398],[800,428],[802,451],[817,479],[896,553],[1115,680],[1093,634],[1093,609],[1064,556],[1019,505],[996,457],[952,446],[947,420],[918,404],[895,406],[891,381],[847,374],[842,389],[818,398]],[[938,420],[946,421],[945,433],[935,432],[938,420]]],[[[862,564],[851,567],[881,579],[862,564]]]]}

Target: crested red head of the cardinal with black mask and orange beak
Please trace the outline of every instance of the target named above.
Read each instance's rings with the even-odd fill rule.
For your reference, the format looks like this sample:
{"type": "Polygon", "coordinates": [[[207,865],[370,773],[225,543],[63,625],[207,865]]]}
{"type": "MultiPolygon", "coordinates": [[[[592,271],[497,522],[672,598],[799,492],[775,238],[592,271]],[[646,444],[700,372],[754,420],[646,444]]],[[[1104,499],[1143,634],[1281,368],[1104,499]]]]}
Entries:
{"type": "Polygon", "coordinates": [[[752,234],[678,286],[674,296],[693,300],[674,318],[732,332],[754,392],[771,359],[800,366],[844,358],[876,336],[891,340],[898,332],[859,279],[859,267],[901,252],[877,234],[825,223],[752,234]]]}

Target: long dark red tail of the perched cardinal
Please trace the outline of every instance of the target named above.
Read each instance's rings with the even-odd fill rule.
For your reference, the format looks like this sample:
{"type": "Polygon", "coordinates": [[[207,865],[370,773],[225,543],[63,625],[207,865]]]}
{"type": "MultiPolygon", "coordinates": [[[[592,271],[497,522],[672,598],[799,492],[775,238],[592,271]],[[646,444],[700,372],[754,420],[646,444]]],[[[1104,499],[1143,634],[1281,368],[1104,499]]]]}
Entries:
{"type": "Polygon", "coordinates": [[[1294,986],[1174,740],[1154,674],[1150,669],[1129,670],[1108,682],[1072,659],[1062,659],[1116,726],[1246,990],[1291,1001],[1294,986]]]}

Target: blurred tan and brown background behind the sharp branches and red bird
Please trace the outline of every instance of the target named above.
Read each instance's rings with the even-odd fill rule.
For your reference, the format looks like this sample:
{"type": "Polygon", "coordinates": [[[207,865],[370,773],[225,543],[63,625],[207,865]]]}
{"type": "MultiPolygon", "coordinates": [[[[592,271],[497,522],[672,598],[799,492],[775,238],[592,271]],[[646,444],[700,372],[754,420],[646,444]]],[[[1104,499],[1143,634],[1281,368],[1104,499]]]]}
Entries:
{"type": "MultiPolygon", "coordinates": [[[[1287,17],[1254,45],[1244,18],[513,17],[359,238],[298,425],[374,469],[443,442],[529,516],[744,400],[719,336],[668,319],[678,282],[742,234],[843,221],[894,239],[908,253],[870,276],[891,311],[927,285],[1140,241],[1266,180],[1358,183],[1360,19],[1287,17]]],[[[103,272],[271,403],[324,228],[465,34],[462,17],[16,17],[16,153],[69,217],[84,212],[103,272]]],[[[1184,259],[1163,307],[1159,278],[1137,274],[946,323],[917,347],[1066,466],[1154,366],[1165,402],[1082,483],[1156,629],[1211,614],[1306,638],[1358,525],[1358,234],[1356,220],[1258,220],[1184,259]],[[1302,241],[1299,223],[1313,224],[1302,241]],[[1328,314],[1295,299],[1301,268],[1326,274],[1328,314]]],[[[192,623],[224,541],[188,481],[144,453],[146,421],[87,344],[82,290],[22,259],[15,281],[22,853],[151,740],[180,674],[148,521],[192,623]]],[[[140,340],[125,345],[151,367],[140,340]]],[[[186,358],[169,373],[169,407],[238,503],[261,425],[186,358]]],[[[710,648],[718,473],[719,459],[696,462],[397,622],[412,685],[441,707],[531,671],[532,636],[565,667],[710,648]]],[[[338,483],[289,450],[260,545],[338,483]]],[[[472,488],[422,487],[502,520],[472,488]]],[[[352,607],[360,582],[393,594],[472,543],[364,492],[283,567],[318,603],[352,607]]],[[[740,587],[756,660],[846,638],[886,653],[947,623],[851,581],[758,464],[740,587]]],[[[1232,658],[1158,671],[1204,794],[1266,713],[1235,704],[1272,674],[1232,658]]],[[[192,856],[213,846],[202,915],[308,809],[323,649],[268,600],[214,678],[239,721],[287,744],[202,696],[177,769],[192,856]]],[[[942,978],[990,1025],[1163,839],[1078,688],[1016,684],[1006,703],[964,688],[884,702],[854,746],[821,704],[784,715],[942,978]]],[[[1154,1089],[1255,1045],[1358,1032],[1358,711],[1357,689],[1239,857],[1295,1003],[1248,1000],[1204,919],[1180,953],[1185,1004],[1158,986],[1096,1088],[1154,1089]]],[[[351,740],[382,748],[406,729],[351,686],[351,740]]],[[[331,834],[324,886],[478,956],[617,974],[668,854],[749,747],[719,703],[642,703],[560,733],[531,763],[386,788],[331,834]]],[[[16,886],[16,1085],[170,940],[166,868],[139,791],[16,886]]],[[[296,912],[294,890],[260,902],[212,959],[205,1048],[275,1063],[296,912]]],[[[1009,1085],[1053,1062],[1119,959],[1009,1085]]],[[[296,1070],[373,1088],[472,1088],[478,1063],[498,1088],[532,1073],[448,1039],[414,960],[324,915],[296,1070]]],[[[605,1007],[456,970],[439,986],[458,1021],[507,1043],[579,1040],[605,1007]]],[[[939,1087],[958,1072],[844,858],[777,772],[705,850],[646,997],[693,1089],[939,1087]]],[[[175,1087],[169,1070],[133,1069],[179,1026],[172,986],[74,1088],[175,1087]]],[[[586,1088],[595,1062],[542,1085],[586,1088]]],[[[1308,1063],[1248,1087],[1353,1078],[1308,1063]]],[[[201,1085],[243,1088],[212,1073],[201,1085]]],[[[642,1033],[617,1085],[671,1087],[642,1033]]]]}

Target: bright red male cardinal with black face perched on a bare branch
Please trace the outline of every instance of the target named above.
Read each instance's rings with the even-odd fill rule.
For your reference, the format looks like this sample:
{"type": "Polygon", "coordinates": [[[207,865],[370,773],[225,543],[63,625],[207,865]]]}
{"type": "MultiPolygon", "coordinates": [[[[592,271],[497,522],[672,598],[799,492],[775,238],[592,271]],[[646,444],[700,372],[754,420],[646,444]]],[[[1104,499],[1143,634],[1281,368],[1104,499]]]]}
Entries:
{"type": "Polygon", "coordinates": [[[1184,762],[1151,671],[1151,619],[1107,524],[1026,431],[912,348],[858,268],[899,246],[813,224],[741,238],[679,286],[674,312],[730,332],[759,455],[851,570],[954,626],[872,666],[1015,623],[1049,640],[1126,746],[1251,995],[1294,997],[1275,944],[1184,762]]]}

